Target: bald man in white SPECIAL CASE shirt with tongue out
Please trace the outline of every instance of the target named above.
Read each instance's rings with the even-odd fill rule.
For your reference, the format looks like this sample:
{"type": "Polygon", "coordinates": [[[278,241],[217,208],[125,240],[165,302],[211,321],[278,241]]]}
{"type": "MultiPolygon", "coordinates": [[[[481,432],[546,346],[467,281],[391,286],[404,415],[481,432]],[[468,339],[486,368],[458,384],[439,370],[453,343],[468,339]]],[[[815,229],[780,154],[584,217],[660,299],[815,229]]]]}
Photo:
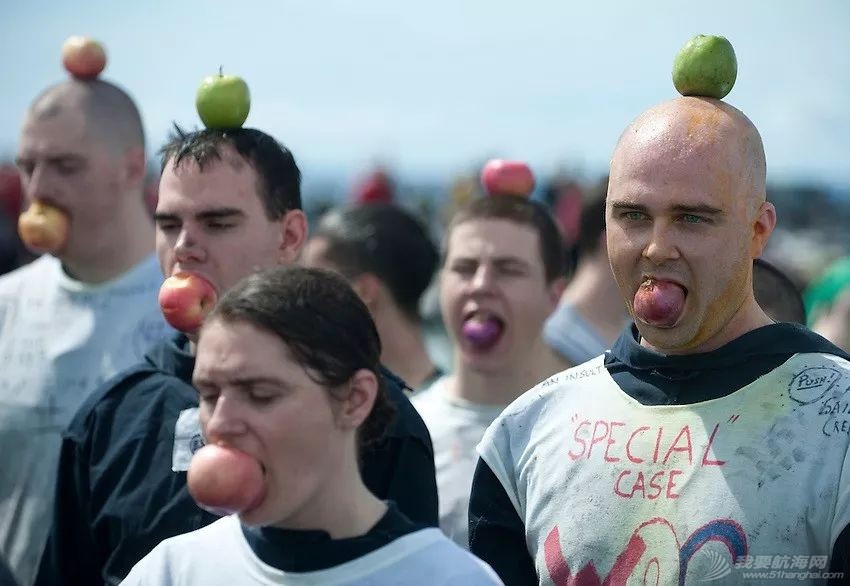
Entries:
{"type": "Polygon", "coordinates": [[[472,552],[512,586],[847,569],[850,363],[755,301],[776,224],[756,128],[711,99],[650,109],[617,144],[606,222],[634,323],[488,429],[472,552]]]}

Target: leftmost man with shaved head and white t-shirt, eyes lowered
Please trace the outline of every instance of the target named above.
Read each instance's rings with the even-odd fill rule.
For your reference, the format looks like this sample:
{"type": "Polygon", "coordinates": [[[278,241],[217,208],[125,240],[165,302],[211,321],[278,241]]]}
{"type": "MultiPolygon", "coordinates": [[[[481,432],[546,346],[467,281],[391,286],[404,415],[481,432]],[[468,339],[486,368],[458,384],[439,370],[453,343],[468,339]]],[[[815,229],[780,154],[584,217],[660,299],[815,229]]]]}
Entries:
{"type": "Polygon", "coordinates": [[[130,97],[103,81],[52,86],[26,114],[17,163],[27,203],[70,218],[60,250],[0,278],[0,555],[26,586],[47,538],[61,431],[168,330],[130,97]]]}

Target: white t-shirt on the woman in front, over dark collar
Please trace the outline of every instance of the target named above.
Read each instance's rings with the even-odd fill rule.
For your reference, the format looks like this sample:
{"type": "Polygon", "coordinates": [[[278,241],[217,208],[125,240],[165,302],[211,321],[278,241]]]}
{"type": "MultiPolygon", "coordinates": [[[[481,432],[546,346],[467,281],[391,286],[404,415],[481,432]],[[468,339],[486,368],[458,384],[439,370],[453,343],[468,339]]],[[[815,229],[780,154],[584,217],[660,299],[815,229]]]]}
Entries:
{"type": "Polygon", "coordinates": [[[292,573],[260,560],[242,533],[239,517],[219,519],[160,543],[121,583],[125,586],[491,586],[490,567],[437,529],[404,535],[360,558],[315,572],[292,573]]]}

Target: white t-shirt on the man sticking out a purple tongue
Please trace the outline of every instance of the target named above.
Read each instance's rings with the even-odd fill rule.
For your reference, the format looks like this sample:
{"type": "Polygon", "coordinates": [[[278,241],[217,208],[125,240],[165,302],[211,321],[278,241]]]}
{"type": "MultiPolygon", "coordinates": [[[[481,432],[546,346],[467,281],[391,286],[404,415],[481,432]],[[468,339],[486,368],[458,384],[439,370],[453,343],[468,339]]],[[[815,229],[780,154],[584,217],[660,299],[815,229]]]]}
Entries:
{"type": "Polygon", "coordinates": [[[447,381],[447,376],[437,379],[411,401],[434,444],[440,528],[455,543],[469,549],[469,493],[478,463],[475,446],[505,406],[452,397],[446,390],[447,381]]]}

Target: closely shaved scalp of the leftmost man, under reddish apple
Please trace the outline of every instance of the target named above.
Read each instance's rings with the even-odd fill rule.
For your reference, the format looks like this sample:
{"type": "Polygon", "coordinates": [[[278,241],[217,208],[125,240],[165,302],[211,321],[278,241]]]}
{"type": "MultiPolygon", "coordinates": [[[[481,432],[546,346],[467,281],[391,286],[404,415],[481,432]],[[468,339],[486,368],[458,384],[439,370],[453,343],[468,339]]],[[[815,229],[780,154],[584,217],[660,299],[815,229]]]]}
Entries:
{"type": "Polygon", "coordinates": [[[144,150],[142,119],[133,100],[124,90],[101,80],[63,81],[41,93],[30,106],[27,117],[41,119],[65,111],[83,112],[92,137],[126,152],[144,150]]]}

